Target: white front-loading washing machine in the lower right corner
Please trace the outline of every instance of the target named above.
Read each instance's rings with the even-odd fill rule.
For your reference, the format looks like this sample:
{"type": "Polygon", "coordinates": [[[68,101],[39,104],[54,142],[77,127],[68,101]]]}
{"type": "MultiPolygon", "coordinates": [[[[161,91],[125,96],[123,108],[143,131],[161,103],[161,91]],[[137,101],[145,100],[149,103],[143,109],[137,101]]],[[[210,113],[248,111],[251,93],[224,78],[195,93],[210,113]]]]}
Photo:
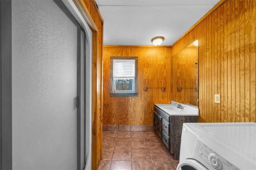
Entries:
{"type": "Polygon", "coordinates": [[[184,123],[177,170],[256,170],[256,123],[184,123]]]}

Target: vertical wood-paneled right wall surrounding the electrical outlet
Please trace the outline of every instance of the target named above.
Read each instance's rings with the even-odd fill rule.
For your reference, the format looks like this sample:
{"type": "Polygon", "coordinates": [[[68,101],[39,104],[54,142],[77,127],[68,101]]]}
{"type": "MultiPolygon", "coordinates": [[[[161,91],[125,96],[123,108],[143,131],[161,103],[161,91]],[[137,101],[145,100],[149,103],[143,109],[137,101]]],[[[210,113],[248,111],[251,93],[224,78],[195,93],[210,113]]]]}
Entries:
{"type": "Polygon", "coordinates": [[[176,54],[199,40],[200,122],[256,122],[255,6],[226,0],[172,47],[176,54]]]}

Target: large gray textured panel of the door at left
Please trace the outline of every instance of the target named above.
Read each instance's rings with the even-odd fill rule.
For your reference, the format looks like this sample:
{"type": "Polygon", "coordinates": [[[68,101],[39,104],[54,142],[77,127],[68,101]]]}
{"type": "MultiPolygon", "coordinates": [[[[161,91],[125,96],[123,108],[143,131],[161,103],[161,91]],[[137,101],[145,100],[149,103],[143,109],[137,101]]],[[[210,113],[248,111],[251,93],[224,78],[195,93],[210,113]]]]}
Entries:
{"type": "Polygon", "coordinates": [[[78,167],[78,28],[52,0],[12,1],[12,167],[78,167]]]}

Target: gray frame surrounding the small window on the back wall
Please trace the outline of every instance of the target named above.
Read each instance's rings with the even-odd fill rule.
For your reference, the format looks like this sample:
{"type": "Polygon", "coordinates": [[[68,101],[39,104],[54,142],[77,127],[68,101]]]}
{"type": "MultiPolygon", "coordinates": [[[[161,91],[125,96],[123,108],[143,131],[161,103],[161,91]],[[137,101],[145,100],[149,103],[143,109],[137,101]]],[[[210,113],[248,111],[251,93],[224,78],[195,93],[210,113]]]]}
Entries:
{"type": "Polygon", "coordinates": [[[110,96],[111,97],[129,97],[129,96],[138,96],[138,90],[137,90],[137,84],[138,84],[138,57],[116,57],[111,56],[110,57],[110,96]],[[135,77],[133,82],[133,91],[116,91],[115,90],[115,79],[113,77],[113,60],[114,59],[134,59],[135,61],[135,77]]]}

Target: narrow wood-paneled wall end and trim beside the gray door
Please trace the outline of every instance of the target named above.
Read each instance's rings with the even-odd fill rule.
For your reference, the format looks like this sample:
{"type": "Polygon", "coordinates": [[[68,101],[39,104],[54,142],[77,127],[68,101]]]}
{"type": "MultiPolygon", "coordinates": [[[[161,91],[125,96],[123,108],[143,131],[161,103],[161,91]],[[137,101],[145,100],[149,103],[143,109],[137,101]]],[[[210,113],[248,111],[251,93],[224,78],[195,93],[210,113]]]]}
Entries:
{"type": "Polygon", "coordinates": [[[103,19],[95,0],[73,0],[92,30],[92,169],[98,169],[102,150],[103,19]]]}

